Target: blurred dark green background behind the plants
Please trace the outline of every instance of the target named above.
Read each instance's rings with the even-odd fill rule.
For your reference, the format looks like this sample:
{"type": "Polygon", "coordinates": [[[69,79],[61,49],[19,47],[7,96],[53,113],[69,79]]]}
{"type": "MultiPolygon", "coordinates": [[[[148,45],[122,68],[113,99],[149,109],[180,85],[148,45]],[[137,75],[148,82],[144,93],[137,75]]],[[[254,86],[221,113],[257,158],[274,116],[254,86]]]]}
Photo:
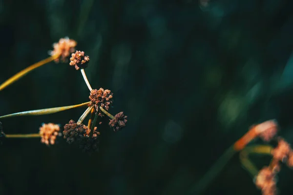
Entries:
{"type": "MultiPolygon", "coordinates": [[[[184,195],[252,124],[275,118],[293,143],[292,10],[292,0],[0,0],[0,83],[68,36],[90,57],[92,87],[114,93],[110,113],[128,116],[116,133],[105,119],[92,155],[62,138],[4,140],[0,195],[184,195]]],[[[79,71],[51,62],[0,92],[0,115],[88,96],[79,71]]],[[[38,133],[83,112],[1,122],[6,134],[38,133]]],[[[284,166],[281,195],[292,181],[284,166]]],[[[205,193],[261,194],[238,155],[205,193]]]]}

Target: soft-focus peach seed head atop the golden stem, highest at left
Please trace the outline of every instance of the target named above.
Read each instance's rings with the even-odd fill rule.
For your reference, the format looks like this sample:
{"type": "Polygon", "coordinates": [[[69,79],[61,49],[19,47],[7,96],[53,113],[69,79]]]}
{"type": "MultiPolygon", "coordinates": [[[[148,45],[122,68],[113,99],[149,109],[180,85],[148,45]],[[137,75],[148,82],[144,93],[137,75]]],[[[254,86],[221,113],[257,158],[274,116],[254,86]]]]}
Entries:
{"type": "Polygon", "coordinates": [[[55,62],[66,62],[67,57],[69,57],[70,53],[75,51],[75,46],[77,42],[73,39],[69,39],[68,37],[62,38],[57,43],[53,43],[53,51],[50,51],[49,54],[51,56],[60,55],[60,58],[55,59],[55,62]]]}

